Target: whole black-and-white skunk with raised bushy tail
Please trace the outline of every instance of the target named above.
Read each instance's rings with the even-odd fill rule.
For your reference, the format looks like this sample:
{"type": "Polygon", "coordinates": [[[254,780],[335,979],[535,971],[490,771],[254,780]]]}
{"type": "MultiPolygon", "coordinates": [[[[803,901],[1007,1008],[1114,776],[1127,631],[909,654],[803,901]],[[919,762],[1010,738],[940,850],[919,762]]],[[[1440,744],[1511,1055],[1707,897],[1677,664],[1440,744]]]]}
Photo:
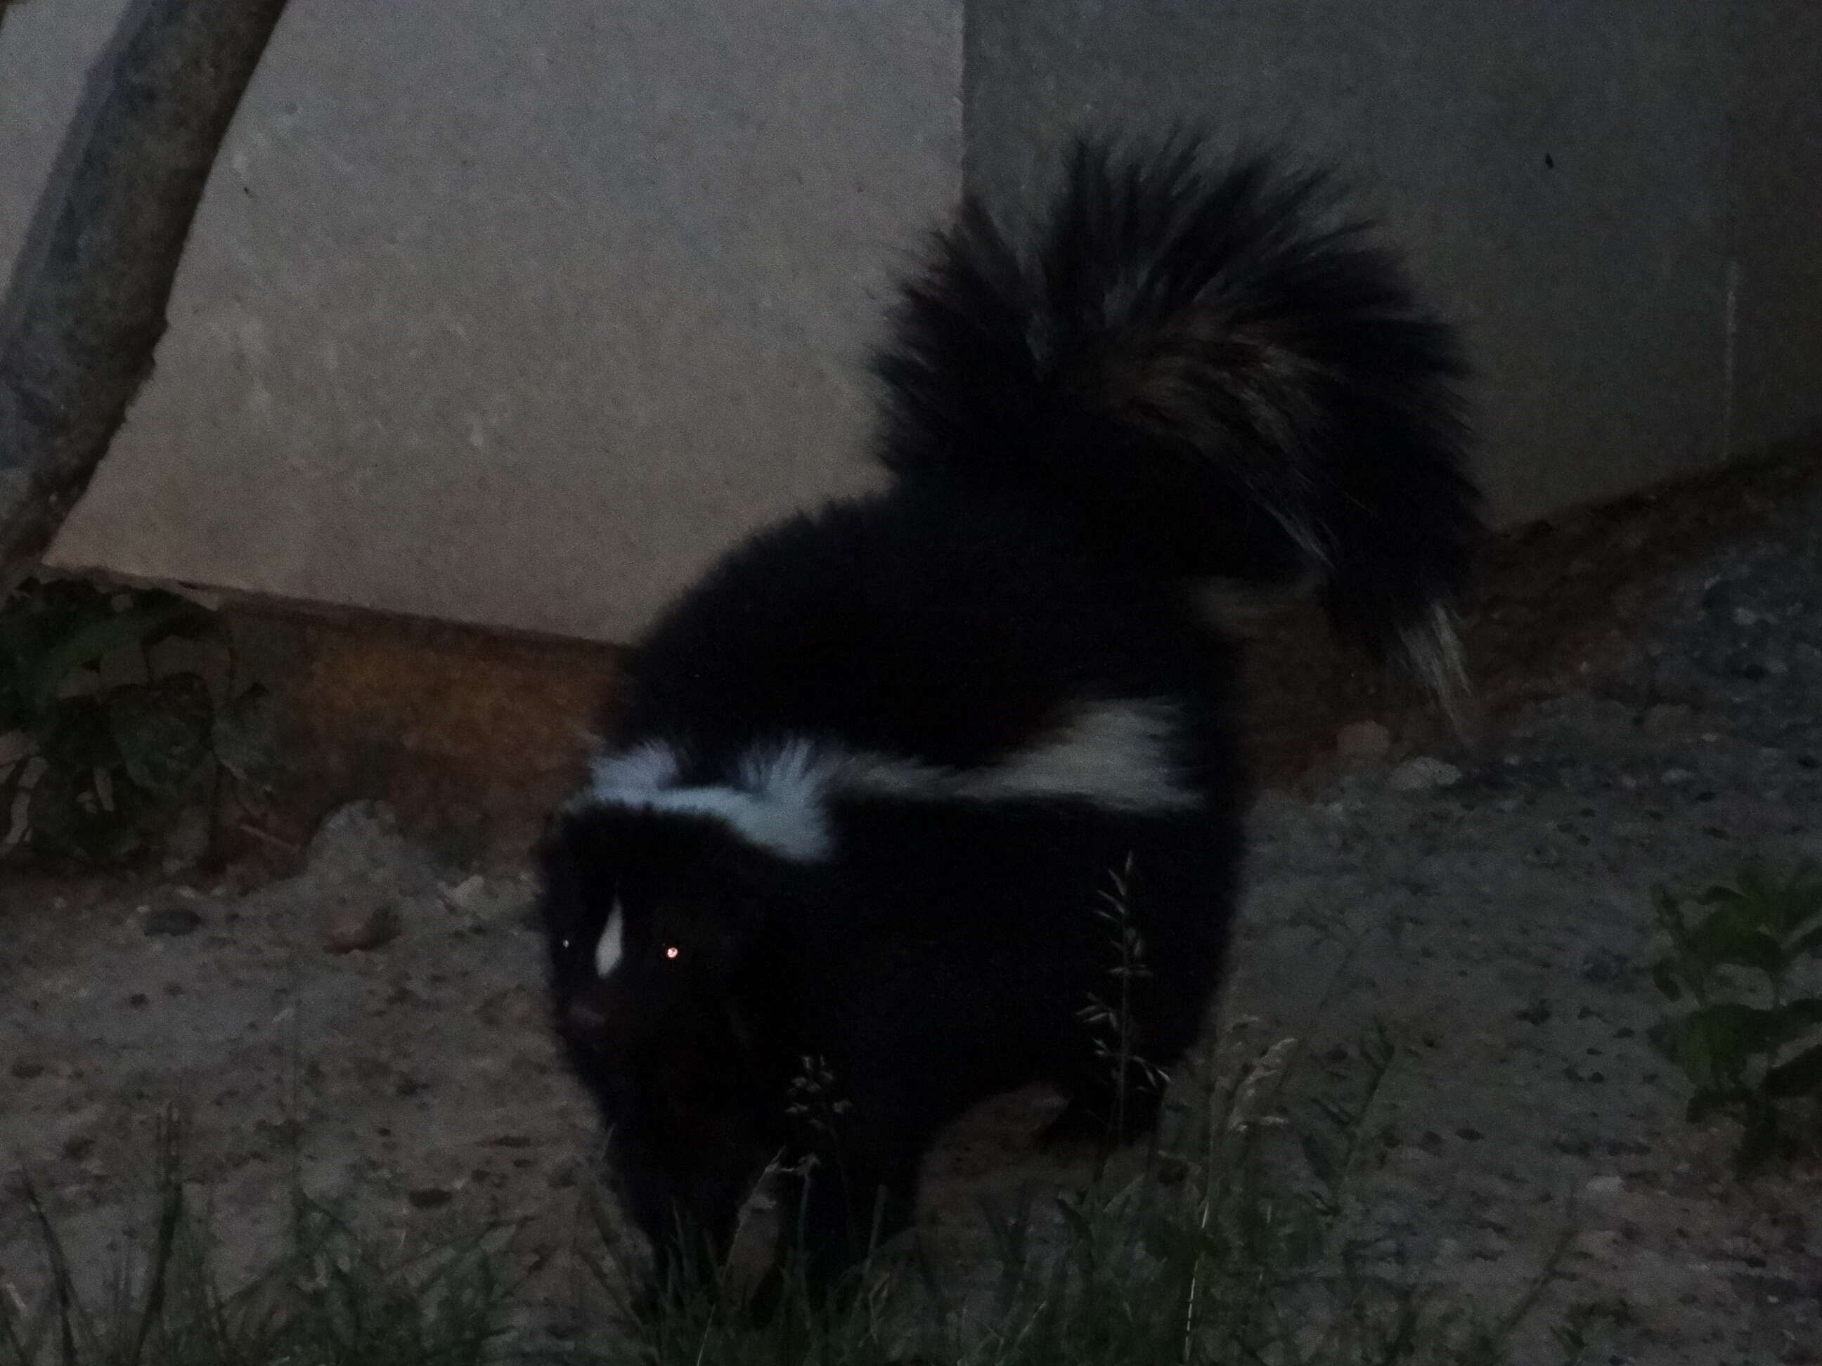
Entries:
{"type": "Polygon", "coordinates": [[[1243,861],[1199,585],[1314,581],[1463,687],[1456,337],[1332,213],[1188,138],[1079,144],[1018,239],[964,202],[875,359],[885,490],[756,534],[638,645],[541,860],[556,1027],[654,1284],[771,1164],[825,1284],[986,1096],[1155,1122],[1243,861]]]}

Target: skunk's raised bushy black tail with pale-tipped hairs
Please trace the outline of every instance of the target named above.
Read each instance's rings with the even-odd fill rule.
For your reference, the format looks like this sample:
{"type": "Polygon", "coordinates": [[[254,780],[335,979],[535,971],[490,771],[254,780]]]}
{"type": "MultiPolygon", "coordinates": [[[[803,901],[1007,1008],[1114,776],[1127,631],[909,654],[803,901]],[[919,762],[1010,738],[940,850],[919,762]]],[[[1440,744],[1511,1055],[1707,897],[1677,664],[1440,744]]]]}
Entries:
{"type": "Polygon", "coordinates": [[[1325,184],[1082,144],[1029,244],[978,202],[906,286],[882,457],[1017,486],[1170,577],[1321,583],[1330,617],[1461,685],[1478,530],[1454,333],[1325,184]]]}

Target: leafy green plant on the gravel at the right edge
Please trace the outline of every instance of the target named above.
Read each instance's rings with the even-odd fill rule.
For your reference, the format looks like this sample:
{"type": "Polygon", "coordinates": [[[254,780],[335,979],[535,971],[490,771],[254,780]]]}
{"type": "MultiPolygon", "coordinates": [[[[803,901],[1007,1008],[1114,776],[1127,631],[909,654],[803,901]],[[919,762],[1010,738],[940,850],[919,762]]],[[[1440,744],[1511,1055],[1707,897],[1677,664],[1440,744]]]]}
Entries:
{"type": "Polygon", "coordinates": [[[1822,956],[1822,876],[1745,869],[1689,898],[1656,887],[1653,902],[1671,953],[1651,976],[1693,1005],[1651,1038],[1696,1087],[1689,1120],[1736,1118],[1735,1160],[1756,1167],[1789,1149],[1789,1102],[1822,1096],[1822,994],[1796,982],[1822,956]]]}

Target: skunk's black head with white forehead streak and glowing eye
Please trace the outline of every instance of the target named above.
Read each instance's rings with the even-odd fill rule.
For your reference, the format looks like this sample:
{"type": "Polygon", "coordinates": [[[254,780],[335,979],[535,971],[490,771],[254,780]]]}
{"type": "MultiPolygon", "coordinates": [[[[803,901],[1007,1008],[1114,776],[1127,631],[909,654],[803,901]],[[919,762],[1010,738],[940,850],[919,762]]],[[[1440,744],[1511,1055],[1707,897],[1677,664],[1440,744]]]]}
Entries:
{"type": "Polygon", "coordinates": [[[543,849],[558,1033],[609,1096],[722,1109],[756,1080],[754,1018],[791,871],[705,816],[567,812],[543,849]]]}

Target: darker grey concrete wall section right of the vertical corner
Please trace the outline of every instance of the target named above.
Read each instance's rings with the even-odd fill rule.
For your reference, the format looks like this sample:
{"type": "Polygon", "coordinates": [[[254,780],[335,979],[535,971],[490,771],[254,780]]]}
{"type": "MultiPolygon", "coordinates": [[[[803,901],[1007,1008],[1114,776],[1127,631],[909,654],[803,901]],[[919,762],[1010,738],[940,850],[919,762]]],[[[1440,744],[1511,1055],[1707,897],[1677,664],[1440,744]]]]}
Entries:
{"type": "Polygon", "coordinates": [[[1822,428],[1822,7],[975,0],[967,173],[1077,126],[1339,162],[1469,330],[1520,521],[1822,428]]]}

